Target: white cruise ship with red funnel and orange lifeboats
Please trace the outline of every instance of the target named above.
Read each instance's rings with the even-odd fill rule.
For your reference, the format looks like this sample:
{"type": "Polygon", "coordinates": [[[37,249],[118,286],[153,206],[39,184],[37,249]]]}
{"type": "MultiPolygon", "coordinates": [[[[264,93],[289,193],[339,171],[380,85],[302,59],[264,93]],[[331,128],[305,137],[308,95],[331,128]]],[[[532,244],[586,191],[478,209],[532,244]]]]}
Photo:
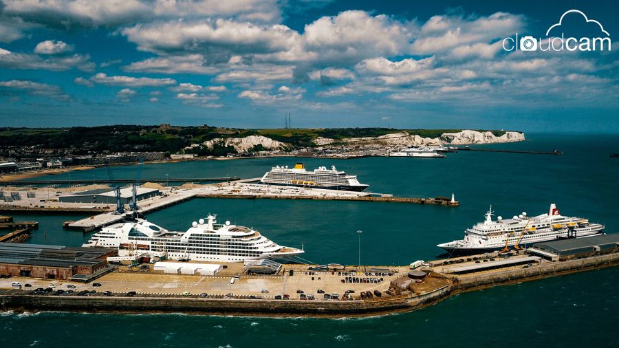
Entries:
{"type": "Polygon", "coordinates": [[[510,246],[519,249],[532,243],[555,239],[580,238],[602,234],[604,225],[590,223],[581,217],[566,217],[559,213],[556,204],[550,204],[548,213],[528,217],[523,212],[512,219],[494,216],[492,206],[486,213],[486,220],[467,228],[464,239],[437,245],[447,252],[474,254],[493,250],[504,250],[510,246]]]}

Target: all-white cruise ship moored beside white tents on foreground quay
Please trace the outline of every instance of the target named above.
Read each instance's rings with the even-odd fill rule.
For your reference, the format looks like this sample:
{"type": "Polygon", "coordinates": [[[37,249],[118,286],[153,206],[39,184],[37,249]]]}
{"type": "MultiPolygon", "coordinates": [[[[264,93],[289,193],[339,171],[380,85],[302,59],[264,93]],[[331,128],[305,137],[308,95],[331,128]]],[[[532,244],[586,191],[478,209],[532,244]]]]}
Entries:
{"type": "Polygon", "coordinates": [[[217,224],[216,215],[194,221],[186,232],[174,232],[140,218],[103,228],[85,247],[118,248],[118,256],[140,252],[166,254],[168,259],[243,262],[259,259],[290,259],[303,250],[279,246],[253,228],[217,224]]]}

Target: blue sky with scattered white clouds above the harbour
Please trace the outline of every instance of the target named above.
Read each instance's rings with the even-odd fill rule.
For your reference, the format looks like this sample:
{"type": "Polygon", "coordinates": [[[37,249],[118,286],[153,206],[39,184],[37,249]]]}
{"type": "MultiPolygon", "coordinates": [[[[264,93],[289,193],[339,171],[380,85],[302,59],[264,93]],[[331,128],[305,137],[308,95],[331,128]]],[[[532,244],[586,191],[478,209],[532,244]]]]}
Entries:
{"type": "Polygon", "coordinates": [[[618,14],[596,0],[0,0],[0,126],[283,128],[290,113],[298,128],[619,133],[618,14]],[[516,34],[563,50],[508,51],[516,34]],[[569,51],[568,37],[608,45],[569,51]]]}

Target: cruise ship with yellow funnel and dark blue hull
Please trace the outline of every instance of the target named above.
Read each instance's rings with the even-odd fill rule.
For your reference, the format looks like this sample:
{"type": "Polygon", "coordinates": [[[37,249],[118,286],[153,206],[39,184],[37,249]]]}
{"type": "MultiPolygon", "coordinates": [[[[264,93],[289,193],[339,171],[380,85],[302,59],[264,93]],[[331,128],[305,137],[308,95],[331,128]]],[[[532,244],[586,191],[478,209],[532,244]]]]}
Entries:
{"type": "Polygon", "coordinates": [[[343,191],[363,191],[369,186],[361,184],[356,175],[347,175],[343,171],[338,171],[335,166],[331,169],[321,166],[314,171],[306,171],[303,163],[297,163],[294,168],[274,166],[271,171],[263,175],[259,183],[343,191]]]}

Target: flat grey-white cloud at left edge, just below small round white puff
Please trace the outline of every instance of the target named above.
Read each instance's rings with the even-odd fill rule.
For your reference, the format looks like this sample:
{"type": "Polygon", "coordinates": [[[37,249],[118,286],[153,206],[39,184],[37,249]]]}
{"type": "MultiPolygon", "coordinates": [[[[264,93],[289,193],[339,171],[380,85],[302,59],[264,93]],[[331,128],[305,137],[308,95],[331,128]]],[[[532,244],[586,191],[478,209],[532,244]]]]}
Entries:
{"type": "Polygon", "coordinates": [[[0,50],[0,68],[4,69],[52,70],[54,72],[78,69],[83,72],[91,72],[95,67],[88,55],[74,54],[72,56],[41,58],[36,54],[0,50]]]}

